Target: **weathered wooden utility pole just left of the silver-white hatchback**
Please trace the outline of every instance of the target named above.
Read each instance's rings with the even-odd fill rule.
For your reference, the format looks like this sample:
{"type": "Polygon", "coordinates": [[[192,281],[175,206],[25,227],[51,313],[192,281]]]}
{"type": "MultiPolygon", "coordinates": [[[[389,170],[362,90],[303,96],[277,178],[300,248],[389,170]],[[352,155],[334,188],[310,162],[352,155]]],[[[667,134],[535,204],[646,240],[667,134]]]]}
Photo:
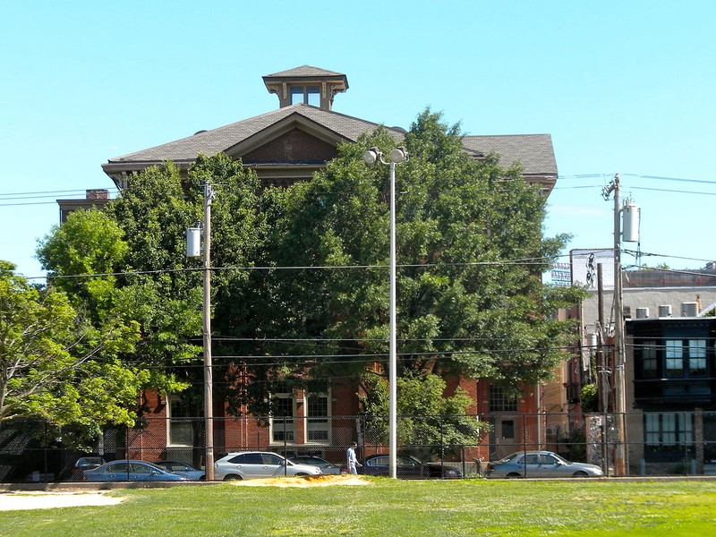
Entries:
{"type": "Polygon", "coordinates": [[[214,481],[214,381],[211,361],[211,202],[215,192],[204,183],[204,433],[207,481],[214,481]]]}

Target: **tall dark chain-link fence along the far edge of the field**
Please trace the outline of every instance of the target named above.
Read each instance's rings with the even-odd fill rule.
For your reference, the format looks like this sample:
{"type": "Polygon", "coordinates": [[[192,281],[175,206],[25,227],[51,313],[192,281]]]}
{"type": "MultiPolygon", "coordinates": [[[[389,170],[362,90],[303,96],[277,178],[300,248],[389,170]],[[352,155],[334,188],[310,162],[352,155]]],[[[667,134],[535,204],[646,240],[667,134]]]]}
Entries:
{"type": "MultiPolygon", "coordinates": [[[[215,460],[261,450],[320,456],[345,470],[354,441],[360,459],[388,453],[384,416],[215,418],[213,429],[215,460]]],[[[203,418],[142,418],[131,429],[106,430],[90,451],[79,452],[41,424],[0,423],[0,482],[81,480],[88,466],[120,459],[201,468],[204,430],[203,418]]],[[[534,450],[601,466],[611,476],[716,474],[716,413],[701,411],[399,416],[397,438],[401,457],[464,477],[482,476],[488,461],[534,450]]]]}

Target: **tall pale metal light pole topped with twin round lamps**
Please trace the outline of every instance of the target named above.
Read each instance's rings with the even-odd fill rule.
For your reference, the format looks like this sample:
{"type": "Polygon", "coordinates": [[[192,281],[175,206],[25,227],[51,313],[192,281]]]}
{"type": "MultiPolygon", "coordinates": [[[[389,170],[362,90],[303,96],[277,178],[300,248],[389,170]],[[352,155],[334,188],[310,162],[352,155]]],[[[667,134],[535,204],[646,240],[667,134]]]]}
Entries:
{"type": "Polygon", "coordinates": [[[405,162],[408,154],[405,148],[396,148],[389,153],[390,160],[383,158],[379,148],[363,153],[366,164],[377,161],[390,165],[390,321],[388,354],[388,475],[397,477],[397,337],[396,337],[396,165],[405,162]]]}

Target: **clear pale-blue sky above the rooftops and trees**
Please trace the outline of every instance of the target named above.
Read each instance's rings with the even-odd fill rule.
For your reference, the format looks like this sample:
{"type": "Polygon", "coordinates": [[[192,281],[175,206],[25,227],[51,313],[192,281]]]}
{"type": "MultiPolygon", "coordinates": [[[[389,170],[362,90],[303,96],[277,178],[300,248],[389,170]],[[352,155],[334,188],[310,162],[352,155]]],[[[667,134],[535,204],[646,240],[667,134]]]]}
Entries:
{"type": "Polygon", "coordinates": [[[469,134],[550,133],[548,234],[610,247],[601,188],[618,172],[641,250],[669,256],[644,262],[703,267],[715,20],[707,0],[0,0],[0,259],[41,275],[55,199],[112,188],[107,158],[273,110],[261,76],[310,64],[347,75],[343,114],[407,128],[431,107],[469,134]]]}

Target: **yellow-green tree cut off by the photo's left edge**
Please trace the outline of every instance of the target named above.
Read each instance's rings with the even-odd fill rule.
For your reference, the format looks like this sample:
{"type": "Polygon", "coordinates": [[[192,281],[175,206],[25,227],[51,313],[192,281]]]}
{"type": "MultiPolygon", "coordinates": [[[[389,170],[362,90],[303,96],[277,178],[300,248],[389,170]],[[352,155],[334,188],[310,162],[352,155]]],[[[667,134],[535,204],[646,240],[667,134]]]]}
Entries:
{"type": "Polygon", "coordinates": [[[107,423],[132,424],[146,375],[117,355],[138,336],[133,323],[92,327],[62,291],[31,286],[0,261],[0,422],[44,422],[75,446],[107,423]]]}

